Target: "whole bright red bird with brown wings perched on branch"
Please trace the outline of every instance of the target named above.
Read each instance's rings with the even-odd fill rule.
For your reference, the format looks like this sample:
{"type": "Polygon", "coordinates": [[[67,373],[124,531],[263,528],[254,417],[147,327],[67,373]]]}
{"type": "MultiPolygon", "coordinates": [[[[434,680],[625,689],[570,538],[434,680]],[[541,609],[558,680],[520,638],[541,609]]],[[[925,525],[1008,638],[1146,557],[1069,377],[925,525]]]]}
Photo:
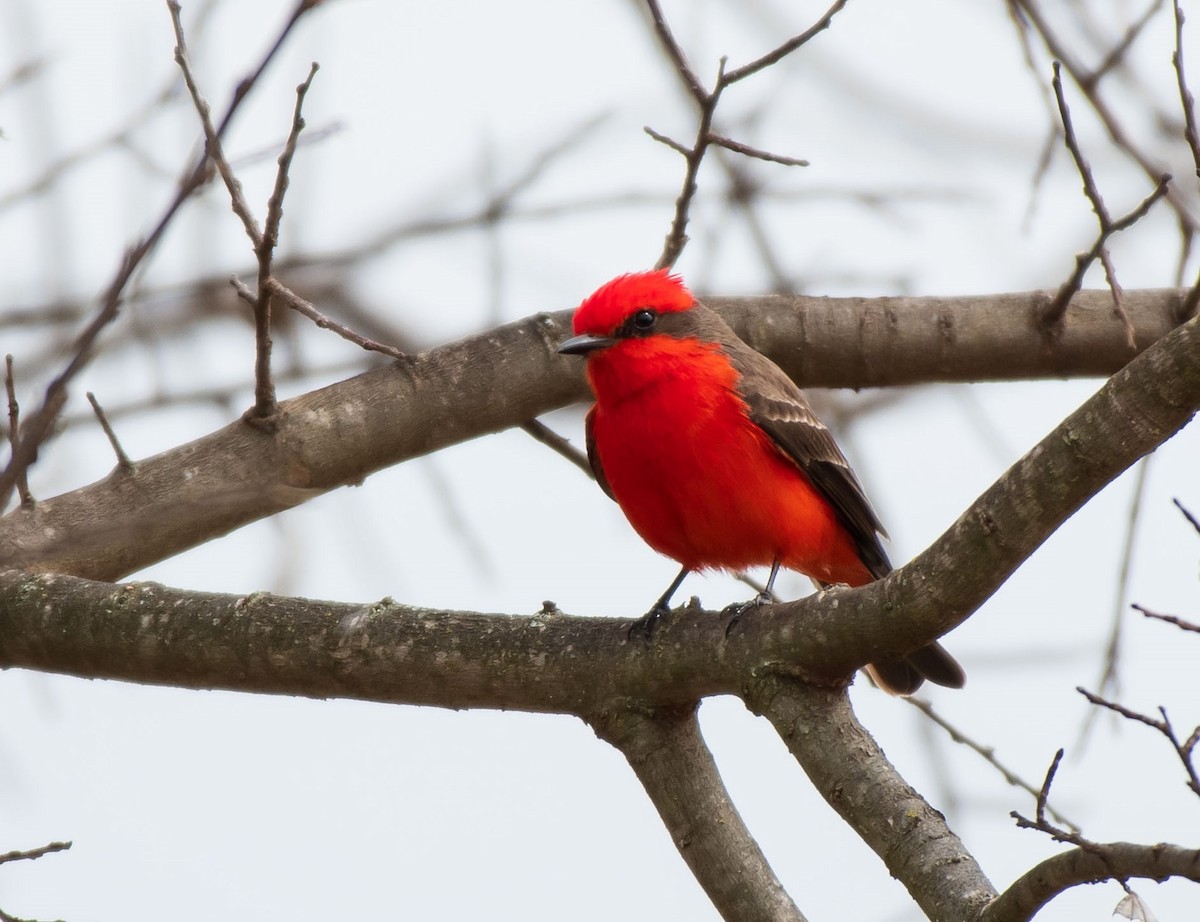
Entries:
{"type": "MultiPolygon", "coordinates": [[[[683,569],[642,622],[647,635],[694,570],[780,567],[821,585],[892,570],[883,526],[829,430],[784,371],[738,339],[667,270],[613,279],[575,312],[558,351],[587,357],[595,394],[588,459],[630,525],[683,569]]],[[[937,642],[868,666],[908,695],[961,688],[937,642]]]]}

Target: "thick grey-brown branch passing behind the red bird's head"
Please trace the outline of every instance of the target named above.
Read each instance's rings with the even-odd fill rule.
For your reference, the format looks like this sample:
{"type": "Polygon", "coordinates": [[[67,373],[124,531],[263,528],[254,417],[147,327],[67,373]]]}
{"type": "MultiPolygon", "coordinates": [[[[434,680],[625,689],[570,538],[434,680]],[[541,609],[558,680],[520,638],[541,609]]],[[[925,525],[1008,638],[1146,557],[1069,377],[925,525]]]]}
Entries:
{"type": "MultiPolygon", "coordinates": [[[[1054,335],[1032,292],[962,299],[712,299],[804,385],[1102,375],[1129,349],[1108,293],[1082,292],[1054,335]]],[[[1182,293],[1128,292],[1145,347],[1182,293]]],[[[0,519],[0,567],[120,579],[383,467],[521,425],[586,396],[554,353],[569,313],[538,315],[286,401],[275,435],[233,423],[139,461],[136,474],[0,519]]]]}

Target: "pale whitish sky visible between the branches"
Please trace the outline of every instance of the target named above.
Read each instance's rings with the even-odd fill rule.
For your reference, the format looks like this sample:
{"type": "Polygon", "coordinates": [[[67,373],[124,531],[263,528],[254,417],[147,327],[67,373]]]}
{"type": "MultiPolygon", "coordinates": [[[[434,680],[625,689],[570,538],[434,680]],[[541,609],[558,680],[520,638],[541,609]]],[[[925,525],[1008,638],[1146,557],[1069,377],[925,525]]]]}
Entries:
{"type": "MultiPolygon", "coordinates": [[[[194,35],[198,76],[218,108],[274,38],[287,6],[223,4],[194,35]]],[[[812,2],[778,6],[706,0],[670,4],[667,12],[710,79],[720,55],[745,62],[823,11],[812,2]]],[[[1121,24],[1112,32],[1140,12],[1111,7],[1121,24]]],[[[185,6],[185,23],[197,8],[185,6]]],[[[1135,54],[1147,95],[1168,108],[1171,40],[1163,11],[1135,54]]],[[[35,82],[0,95],[0,196],[125,125],[178,82],[172,49],[162,4],[0,6],[0,74],[31,58],[46,65],[35,82]]],[[[600,127],[520,203],[648,197],[505,227],[499,285],[492,243],[478,232],[404,243],[356,269],[350,281],[362,300],[422,343],[574,306],[607,277],[658,257],[682,161],[642,126],[690,138],[694,119],[634,4],[328,2],[300,25],[240,116],[230,156],[281,140],[311,60],[322,70],[307,122],[341,128],[296,157],[283,253],[353,249],[389,227],[478,208],[490,187],[598,114],[606,115],[600,127]]],[[[1000,2],[851,0],[793,60],[728,91],[724,125],[756,110],[752,127],[731,131],[812,163],[805,170],[751,164],[774,190],[763,215],[776,253],[809,293],[1052,287],[1094,233],[1064,150],[1032,192],[1048,122],[1000,2]],[[851,190],[912,194],[876,208],[850,200],[851,190]]],[[[1127,210],[1148,184],[1104,146],[1081,103],[1076,114],[1112,210],[1127,210]]],[[[197,137],[187,107],[160,113],[137,134],[150,163],[112,151],[71,173],[49,203],[0,210],[0,312],[95,297],[127,241],[156,220],[197,137]]],[[[1186,180],[1183,155],[1171,151],[1186,180]]],[[[259,214],[272,175],[271,158],[241,173],[259,214]]],[[[695,239],[678,268],[701,292],[766,291],[762,261],[744,221],[720,200],[721,182],[708,163],[695,239]]],[[[1120,241],[1115,257],[1127,288],[1171,285],[1175,227],[1166,211],[1120,241]]],[[[212,190],[190,204],[143,281],[154,287],[248,264],[240,226],[223,192],[212,190]]],[[[152,311],[154,304],[132,311],[125,323],[149,324],[152,311]]],[[[0,337],[18,375],[23,355],[43,354],[28,331],[0,325],[0,337]]],[[[296,354],[283,346],[280,361],[296,354]]],[[[299,354],[313,364],[359,359],[320,333],[304,337],[299,354]]],[[[244,325],[214,325],[186,348],[146,351],[136,361],[101,358],[73,389],[70,412],[85,407],[86,389],[112,406],[162,389],[244,381],[251,360],[244,325]]],[[[25,405],[43,381],[37,376],[54,367],[43,358],[25,369],[25,405]]],[[[842,432],[892,533],[893,558],[902,563],[926,546],[1097,385],[929,388],[842,432]]],[[[142,457],[217,429],[247,405],[244,391],[234,409],[126,417],[118,431],[142,457]]],[[[547,421],[580,443],[581,419],[576,408],[547,421]]],[[[1198,456],[1195,426],[1154,456],[1126,601],[1196,615],[1200,538],[1170,499],[1200,511],[1198,456]]],[[[34,490],[52,496],[110,467],[98,429],[77,425],[43,451],[34,490]]],[[[970,681],[964,692],[930,698],[1031,782],[1066,747],[1055,800],[1092,838],[1194,846],[1200,804],[1165,742],[1108,719],[1086,746],[1079,740],[1087,708],[1074,688],[1094,687],[1100,671],[1132,487],[1127,475],[1097,497],[949,636],[970,681]]],[[[572,613],[630,617],[673,574],[674,564],[644,547],[593,484],[509,432],[385,471],[137,577],[515,613],[553,599],[572,613]]],[[[798,595],[808,583],[791,575],[779,588],[798,595]]],[[[719,607],[746,589],[697,576],[680,598],[688,594],[719,607]]],[[[1200,722],[1200,643],[1124,617],[1121,700],[1146,712],[1166,705],[1189,731],[1200,722]]],[[[863,681],[852,696],[889,758],[949,814],[997,886],[1058,850],[1008,818],[1013,809],[1032,813],[1031,797],[949,744],[913,708],[863,681]]],[[[74,842],[70,852],[0,869],[0,906],[24,917],[715,917],[624,759],[574,718],[179,692],[22,671],[0,675],[0,851],[74,842]]],[[[733,699],[707,701],[701,720],[734,802],[809,918],[919,918],[764,722],[733,699]]],[[[1194,886],[1135,887],[1162,922],[1195,918],[1194,886]]],[[[1108,918],[1118,898],[1116,885],[1079,888],[1039,918],[1108,918]]]]}

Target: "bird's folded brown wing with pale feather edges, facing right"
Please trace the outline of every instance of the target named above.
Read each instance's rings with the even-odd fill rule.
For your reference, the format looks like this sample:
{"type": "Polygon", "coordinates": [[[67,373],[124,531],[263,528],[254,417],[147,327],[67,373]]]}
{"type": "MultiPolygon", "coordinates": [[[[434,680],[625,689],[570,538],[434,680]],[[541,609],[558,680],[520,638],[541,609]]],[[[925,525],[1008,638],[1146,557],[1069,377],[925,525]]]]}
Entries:
{"type": "Polygon", "coordinates": [[[778,365],[740,340],[725,341],[722,347],[738,371],[738,394],[750,419],[829,501],[871,575],[878,579],[890,573],[892,563],[880,544],[880,535],[887,537],[887,532],[850,462],[804,394],[778,365]]]}

